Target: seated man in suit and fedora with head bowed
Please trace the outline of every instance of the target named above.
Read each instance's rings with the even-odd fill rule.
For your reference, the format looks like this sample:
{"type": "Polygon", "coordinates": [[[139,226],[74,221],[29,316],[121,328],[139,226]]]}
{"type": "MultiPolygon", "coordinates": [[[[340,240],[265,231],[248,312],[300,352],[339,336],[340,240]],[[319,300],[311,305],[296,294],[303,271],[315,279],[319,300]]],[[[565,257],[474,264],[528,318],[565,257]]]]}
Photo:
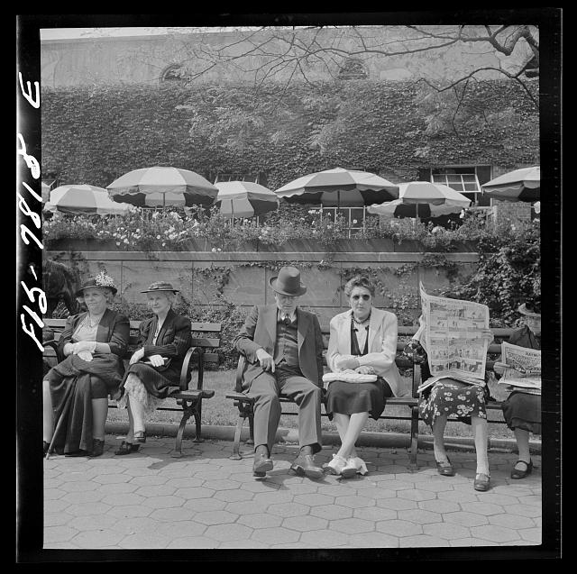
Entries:
{"type": "Polygon", "coordinates": [[[255,306],[234,346],[247,359],[243,390],[254,397],[255,477],[272,469],[270,452],[279,427],[279,395],[298,405],[300,451],[291,469],[299,476],[320,478],[314,455],[321,450],[323,339],[315,314],[299,309],[307,292],[295,267],[283,267],[270,278],[275,304],[255,306]]]}

